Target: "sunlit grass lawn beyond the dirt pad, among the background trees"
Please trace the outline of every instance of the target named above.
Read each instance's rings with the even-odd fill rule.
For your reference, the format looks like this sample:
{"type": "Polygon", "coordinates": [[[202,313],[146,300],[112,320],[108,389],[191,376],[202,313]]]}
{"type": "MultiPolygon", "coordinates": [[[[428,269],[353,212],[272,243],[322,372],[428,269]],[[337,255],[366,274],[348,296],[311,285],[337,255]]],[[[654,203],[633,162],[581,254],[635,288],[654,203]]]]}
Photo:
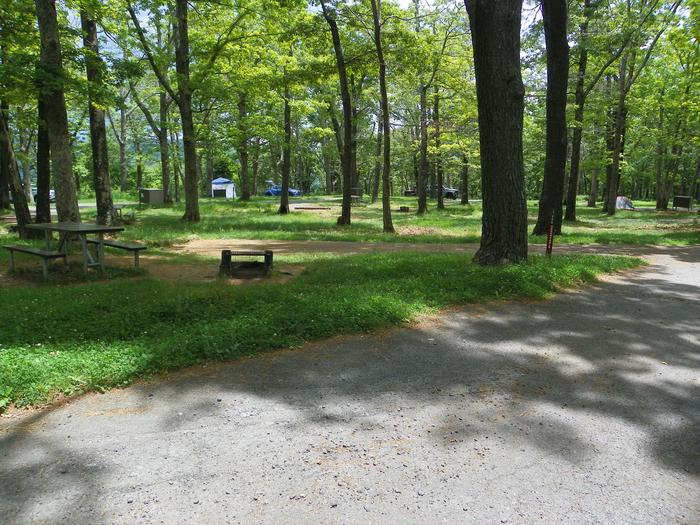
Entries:
{"type": "MultiPolygon", "coordinates": [[[[397,197],[392,208],[409,206],[410,213],[394,213],[396,235],[382,233],[379,203],[354,207],[352,225],[337,226],[340,214],[339,197],[292,199],[309,206],[326,206],[330,210],[296,211],[288,216],[277,212],[273,198],[257,197],[251,202],[202,199],[202,220],[189,224],[179,220],[184,208],[149,208],[137,211],[137,221],[125,232],[126,237],[150,246],[169,246],[189,239],[276,239],[336,240],[365,242],[477,243],[481,236],[481,205],[462,206],[446,201],[447,208],[438,211],[431,202],[423,217],[415,214],[415,198],[397,197]]],[[[89,212],[88,212],[89,213],[89,212]]],[[[537,202],[528,203],[529,229],[537,219],[537,202]]],[[[533,243],[544,237],[530,238],[533,243]]],[[[689,245],[700,243],[700,215],[688,212],[618,211],[608,217],[600,208],[578,207],[578,221],[565,223],[556,239],[562,244],[660,244],[689,245]]]]}

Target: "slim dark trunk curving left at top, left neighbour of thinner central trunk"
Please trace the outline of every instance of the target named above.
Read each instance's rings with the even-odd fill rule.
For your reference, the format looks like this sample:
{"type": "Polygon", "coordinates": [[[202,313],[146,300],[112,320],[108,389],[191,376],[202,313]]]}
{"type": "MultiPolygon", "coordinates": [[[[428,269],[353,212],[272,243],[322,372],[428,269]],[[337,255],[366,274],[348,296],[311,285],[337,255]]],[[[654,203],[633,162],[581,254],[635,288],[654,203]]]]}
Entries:
{"type": "Polygon", "coordinates": [[[340,83],[340,100],[343,106],[343,154],[341,155],[341,166],[343,170],[343,204],[340,217],[338,217],[338,224],[349,225],[352,195],[352,100],[350,98],[348,75],[345,69],[345,57],[343,55],[343,47],[340,43],[338,24],[328,11],[324,2],[321,2],[321,7],[323,9],[323,16],[331,30],[335,62],[338,68],[338,80],[340,83]]]}

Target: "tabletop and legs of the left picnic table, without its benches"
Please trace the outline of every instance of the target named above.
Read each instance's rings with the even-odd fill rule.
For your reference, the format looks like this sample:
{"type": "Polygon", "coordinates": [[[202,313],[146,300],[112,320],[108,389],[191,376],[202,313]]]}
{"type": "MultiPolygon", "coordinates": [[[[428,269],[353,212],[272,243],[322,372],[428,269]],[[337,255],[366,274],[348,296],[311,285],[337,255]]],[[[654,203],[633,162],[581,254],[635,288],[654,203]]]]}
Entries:
{"type": "Polygon", "coordinates": [[[66,253],[69,237],[76,236],[83,250],[83,270],[86,272],[88,268],[96,266],[102,271],[105,269],[104,234],[124,231],[123,226],[105,226],[103,224],[93,224],[89,222],[44,222],[28,224],[26,228],[44,232],[47,252],[51,251],[51,237],[53,232],[59,233],[58,250],[56,250],[58,253],[66,253]],[[88,235],[97,235],[97,239],[88,239],[88,235]],[[92,256],[92,253],[90,253],[88,249],[89,243],[97,245],[95,257],[92,256]]]}

